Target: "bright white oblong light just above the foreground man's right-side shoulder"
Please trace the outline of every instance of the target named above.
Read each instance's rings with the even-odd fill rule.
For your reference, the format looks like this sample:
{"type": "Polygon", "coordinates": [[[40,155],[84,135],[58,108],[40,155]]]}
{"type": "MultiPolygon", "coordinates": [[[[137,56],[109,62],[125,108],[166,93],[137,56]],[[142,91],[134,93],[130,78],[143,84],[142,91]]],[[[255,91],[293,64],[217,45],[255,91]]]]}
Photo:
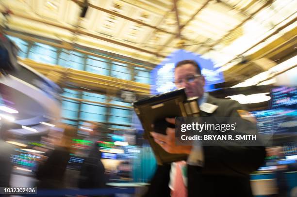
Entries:
{"type": "Polygon", "coordinates": [[[226,98],[231,98],[232,100],[238,101],[240,104],[261,103],[270,100],[270,96],[267,96],[266,94],[269,94],[269,92],[250,95],[238,94],[227,96],[226,98]]]}

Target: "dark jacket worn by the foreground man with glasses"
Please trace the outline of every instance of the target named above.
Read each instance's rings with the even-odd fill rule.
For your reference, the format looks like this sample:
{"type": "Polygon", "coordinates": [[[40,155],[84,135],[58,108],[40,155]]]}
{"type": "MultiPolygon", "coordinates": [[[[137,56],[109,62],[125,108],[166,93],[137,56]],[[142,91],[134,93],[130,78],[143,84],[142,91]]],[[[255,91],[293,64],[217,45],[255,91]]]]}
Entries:
{"type": "MultiPolygon", "coordinates": [[[[207,103],[218,106],[213,114],[200,116],[239,117],[243,107],[234,100],[208,97],[207,103]]],[[[256,129],[250,121],[242,131],[256,129]]],[[[188,165],[189,197],[252,197],[249,174],[264,162],[264,146],[204,146],[204,167],[188,165]]]]}

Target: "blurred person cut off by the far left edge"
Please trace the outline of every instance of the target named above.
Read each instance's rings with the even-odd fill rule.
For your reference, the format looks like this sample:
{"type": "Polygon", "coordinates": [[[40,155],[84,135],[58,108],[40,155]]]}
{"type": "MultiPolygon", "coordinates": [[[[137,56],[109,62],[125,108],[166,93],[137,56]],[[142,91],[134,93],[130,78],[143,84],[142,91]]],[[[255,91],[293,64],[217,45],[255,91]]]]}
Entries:
{"type": "Polygon", "coordinates": [[[11,172],[13,169],[11,155],[13,154],[15,147],[5,142],[8,140],[9,132],[8,125],[3,122],[4,121],[2,121],[0,128],[0,187],[9,187],[11,172]]]}

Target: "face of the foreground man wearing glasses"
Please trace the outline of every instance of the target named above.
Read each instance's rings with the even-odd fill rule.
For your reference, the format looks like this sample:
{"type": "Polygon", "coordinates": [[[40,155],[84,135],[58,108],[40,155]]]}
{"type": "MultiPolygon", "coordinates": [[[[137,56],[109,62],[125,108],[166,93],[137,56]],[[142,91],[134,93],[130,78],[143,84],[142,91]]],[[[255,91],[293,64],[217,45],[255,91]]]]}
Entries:
{"type": "Polygon", "coordinates": [[[177,84],[177,88],[185,88],[187,97],[202,97],[204,93],[203,86],[205,85],[205,79],[203,76],[196,77],[192,82],[186,79],[193,78],[197,75],[196,67],[193,64],[184,64],[175,69],[175,81],[182,81],[177,84]]]}

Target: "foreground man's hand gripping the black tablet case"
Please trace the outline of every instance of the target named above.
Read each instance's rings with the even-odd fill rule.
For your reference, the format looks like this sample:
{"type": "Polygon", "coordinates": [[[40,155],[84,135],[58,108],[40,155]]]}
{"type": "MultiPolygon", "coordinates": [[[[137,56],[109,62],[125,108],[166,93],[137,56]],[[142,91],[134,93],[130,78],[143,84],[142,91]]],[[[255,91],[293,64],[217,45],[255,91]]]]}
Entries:
{"type": "MultiPolygon", "coordinates": [[[[175,124],[175,118],[166,118],[166,121],[175,124]]],[[[157,142],[166,152],[174,154],[190,154],[192,146],[178,146],[175,144],[175,129],[166,128],[166,134],[159,134],[156,132],[150,132],[154,137],[155,142],[157,142]]]]}

